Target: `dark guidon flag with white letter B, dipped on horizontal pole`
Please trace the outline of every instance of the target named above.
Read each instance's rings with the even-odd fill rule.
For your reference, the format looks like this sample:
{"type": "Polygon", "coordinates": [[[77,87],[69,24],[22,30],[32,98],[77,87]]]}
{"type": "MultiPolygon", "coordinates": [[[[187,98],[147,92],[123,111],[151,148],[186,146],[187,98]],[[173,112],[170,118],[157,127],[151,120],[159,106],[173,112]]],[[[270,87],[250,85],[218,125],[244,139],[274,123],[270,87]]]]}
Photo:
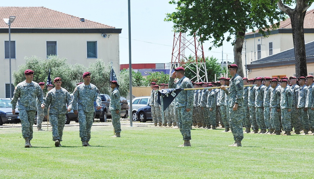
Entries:
{"type": "Polygon", "coordinates": [[[183,90],[183,88],[169,88],[162,89],[158,91],[157,102],[161,105],[163,111],[170,105],[170,103],[178,96],[178,94],[183,90]]]}

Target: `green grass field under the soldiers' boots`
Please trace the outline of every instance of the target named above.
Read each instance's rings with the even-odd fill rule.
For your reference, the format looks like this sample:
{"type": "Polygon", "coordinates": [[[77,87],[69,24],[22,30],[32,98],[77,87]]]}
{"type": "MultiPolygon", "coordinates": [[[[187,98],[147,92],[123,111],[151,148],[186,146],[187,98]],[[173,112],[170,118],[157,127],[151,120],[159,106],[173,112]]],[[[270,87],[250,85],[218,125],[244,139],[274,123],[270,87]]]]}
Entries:
{"type": "Polygon", "coordinates": [[[127,126],[121,138],[93,126],[91,147],[78,126],[65,127],[62,147],[34,131],[32,148],[21,128],[0,128],[0,178],[314,178],[314,136],[244,134],[243,147],[228,147],[232,133],[193,129],[192,147],[177,147],[179,129],[127,126]]]}

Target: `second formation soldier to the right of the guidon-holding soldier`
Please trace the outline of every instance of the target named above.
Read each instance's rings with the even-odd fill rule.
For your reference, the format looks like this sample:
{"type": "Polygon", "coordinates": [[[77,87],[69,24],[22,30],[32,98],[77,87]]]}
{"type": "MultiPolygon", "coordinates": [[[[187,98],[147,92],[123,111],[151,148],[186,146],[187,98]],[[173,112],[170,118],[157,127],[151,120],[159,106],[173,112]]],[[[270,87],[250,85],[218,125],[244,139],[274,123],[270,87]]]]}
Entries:
{"type": "MultiPolygon", "coordinates": [[[[254,85],[255,79],[251,78],[247,80],[247,84],[254,85]]],[[[255,113],[255,93],[256,93],[256,86],[249,87],[248,89],[248,108],[250,113],[250,123],[252,124],[252,133],[258,133],[258,125],[256,121],[256,113],[255,113]]]]}

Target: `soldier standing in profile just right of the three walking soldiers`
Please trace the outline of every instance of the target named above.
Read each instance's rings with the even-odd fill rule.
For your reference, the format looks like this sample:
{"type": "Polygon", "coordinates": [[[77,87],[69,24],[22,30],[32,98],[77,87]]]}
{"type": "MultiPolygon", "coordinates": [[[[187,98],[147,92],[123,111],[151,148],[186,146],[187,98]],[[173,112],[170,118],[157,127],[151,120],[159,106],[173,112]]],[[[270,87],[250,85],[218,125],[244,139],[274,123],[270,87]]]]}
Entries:
{"type": "Polygon", "coordinates": [[[112,137],[120,137],[121,124],[120,124],[120,92],[116,87],[119,87],[118,82],[110,81],[110,87],[112,89],[110,96],[109,110],[111,111],[112,125],[115,131],[115,135],[112,137]]]}

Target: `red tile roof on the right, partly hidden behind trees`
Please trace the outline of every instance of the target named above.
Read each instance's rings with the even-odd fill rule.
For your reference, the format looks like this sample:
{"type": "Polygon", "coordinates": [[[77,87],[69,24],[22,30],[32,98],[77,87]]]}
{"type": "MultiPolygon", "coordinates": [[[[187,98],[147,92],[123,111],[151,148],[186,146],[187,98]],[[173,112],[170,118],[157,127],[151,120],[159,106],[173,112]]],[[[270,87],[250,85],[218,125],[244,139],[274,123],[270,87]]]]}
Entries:
{"type": "MultiPolygon", "coordinates": [[[[304,29],[314,29],[314,9],[306,12],[303,27],[304,29]]],[[[287,18],[284,21],[280,21],[278,29],[292,29],[291,19],[287,18]]],[[[258,33],[258,30],[255,31],[255,33],[258,33]]],[[[254,34],[254,32],[246,33],[246,35],[247,34],[254,34]]]]}

